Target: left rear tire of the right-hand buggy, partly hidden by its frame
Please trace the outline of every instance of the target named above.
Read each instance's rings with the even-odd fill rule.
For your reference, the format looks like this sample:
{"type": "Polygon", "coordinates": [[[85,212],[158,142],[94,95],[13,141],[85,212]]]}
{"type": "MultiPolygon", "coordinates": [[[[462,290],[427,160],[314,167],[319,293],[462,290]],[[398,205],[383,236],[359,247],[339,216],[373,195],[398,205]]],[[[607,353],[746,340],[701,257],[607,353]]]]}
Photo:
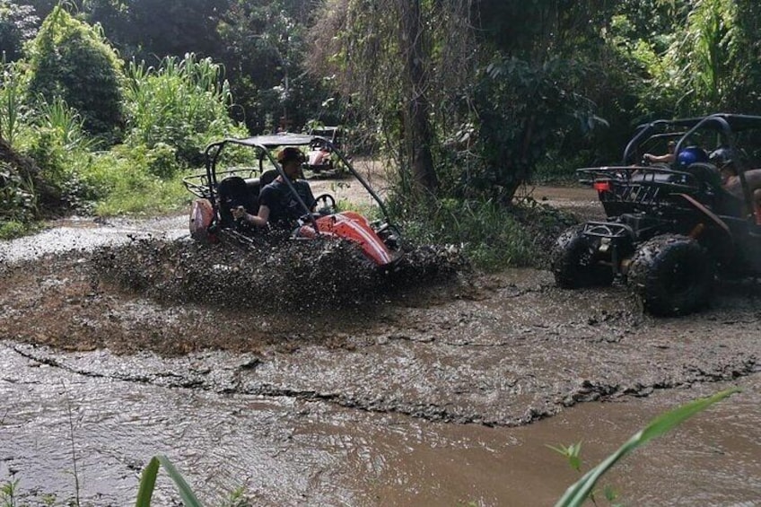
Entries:
{"type": "Polygon", "coordinates": [[[563,289],[599,287],[613,283],[610,266],[596,258],[596,241],[583,234],[583,225],[566,229],[552,251],[552,272],[555,284],[563,289]]]}

